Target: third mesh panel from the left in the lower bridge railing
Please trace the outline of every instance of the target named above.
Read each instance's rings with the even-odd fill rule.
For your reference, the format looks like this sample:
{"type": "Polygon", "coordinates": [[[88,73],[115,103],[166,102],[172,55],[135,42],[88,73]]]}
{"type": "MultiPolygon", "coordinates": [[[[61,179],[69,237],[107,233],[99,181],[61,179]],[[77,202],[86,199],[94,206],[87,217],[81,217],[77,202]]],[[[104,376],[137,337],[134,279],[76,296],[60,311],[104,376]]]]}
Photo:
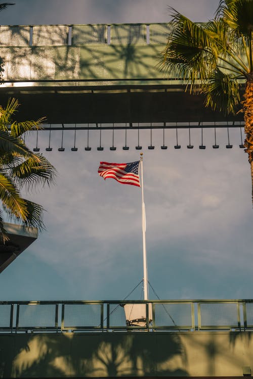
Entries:
{"type": "Polygon", "coordinates": [[[68,329],[102,328],[103,304],[64,304],[63,325],[68,329]]]}

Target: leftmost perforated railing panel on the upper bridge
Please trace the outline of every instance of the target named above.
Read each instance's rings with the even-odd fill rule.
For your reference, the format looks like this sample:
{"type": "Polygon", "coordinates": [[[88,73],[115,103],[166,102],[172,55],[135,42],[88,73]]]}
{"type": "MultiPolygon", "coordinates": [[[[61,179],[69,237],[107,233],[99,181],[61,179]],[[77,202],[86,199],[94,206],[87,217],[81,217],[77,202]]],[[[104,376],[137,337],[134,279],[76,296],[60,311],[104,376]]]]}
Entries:
{"type": "Polygon", "coordinates": [[[0,26],[0,45],[24,46],[29,45],[29,26],[0,26]]]}

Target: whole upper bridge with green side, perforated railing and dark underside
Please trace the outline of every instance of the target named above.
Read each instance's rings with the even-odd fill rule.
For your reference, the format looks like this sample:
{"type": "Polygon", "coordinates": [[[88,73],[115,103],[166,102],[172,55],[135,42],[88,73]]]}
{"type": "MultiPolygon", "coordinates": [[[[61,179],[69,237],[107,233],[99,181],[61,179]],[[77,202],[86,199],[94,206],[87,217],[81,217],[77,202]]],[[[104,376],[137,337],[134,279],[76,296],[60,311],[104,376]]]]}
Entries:
{"type": "Polygon", "coordinates": [[[1,26],[1,101],[16,97],[20,118],[46,115],[58,128],[238,127],[241,113],[225,117],[205,108],[186,81],[157,69],[168,30],[168,24],[1,26]]]}

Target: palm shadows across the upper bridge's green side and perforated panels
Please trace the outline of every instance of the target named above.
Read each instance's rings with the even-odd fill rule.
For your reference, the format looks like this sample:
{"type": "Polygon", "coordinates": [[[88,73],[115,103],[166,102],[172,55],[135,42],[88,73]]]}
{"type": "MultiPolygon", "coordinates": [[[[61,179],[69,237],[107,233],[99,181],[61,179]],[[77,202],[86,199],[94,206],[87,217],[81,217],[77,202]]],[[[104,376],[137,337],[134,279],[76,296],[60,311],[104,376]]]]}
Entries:
{"type": "MultiPolygon", "coordinates": [[[[111,44],[101,27],[73,26],[72,45],[67,27],[5,27],[0,56],[5,61],[4,80],[78,80],[158,78],[156,69],[162,44],[146,44],[144,25],[115,25],[111,44]],[[78,28],[84,28],[78,30],[78,28]],[[139,30],[140,29],[140,30],[139,30]]],[[[105,33],[105,30],[103,30],[105,33]]]]}

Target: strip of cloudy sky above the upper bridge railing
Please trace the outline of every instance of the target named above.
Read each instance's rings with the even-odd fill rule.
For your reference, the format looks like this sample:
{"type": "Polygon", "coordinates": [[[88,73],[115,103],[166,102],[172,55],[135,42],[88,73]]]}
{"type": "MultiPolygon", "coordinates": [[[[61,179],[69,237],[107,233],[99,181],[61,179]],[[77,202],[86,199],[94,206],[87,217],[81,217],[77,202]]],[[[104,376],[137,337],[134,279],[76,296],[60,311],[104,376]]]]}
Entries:
{"type": "Polygon", "coordinates": [[[193,21],[207,21],[213,17],[219,0],[16,0],[14,3],[15,7],[1,14],[2,25],[167,22],[168,7],[193,21]]]}

